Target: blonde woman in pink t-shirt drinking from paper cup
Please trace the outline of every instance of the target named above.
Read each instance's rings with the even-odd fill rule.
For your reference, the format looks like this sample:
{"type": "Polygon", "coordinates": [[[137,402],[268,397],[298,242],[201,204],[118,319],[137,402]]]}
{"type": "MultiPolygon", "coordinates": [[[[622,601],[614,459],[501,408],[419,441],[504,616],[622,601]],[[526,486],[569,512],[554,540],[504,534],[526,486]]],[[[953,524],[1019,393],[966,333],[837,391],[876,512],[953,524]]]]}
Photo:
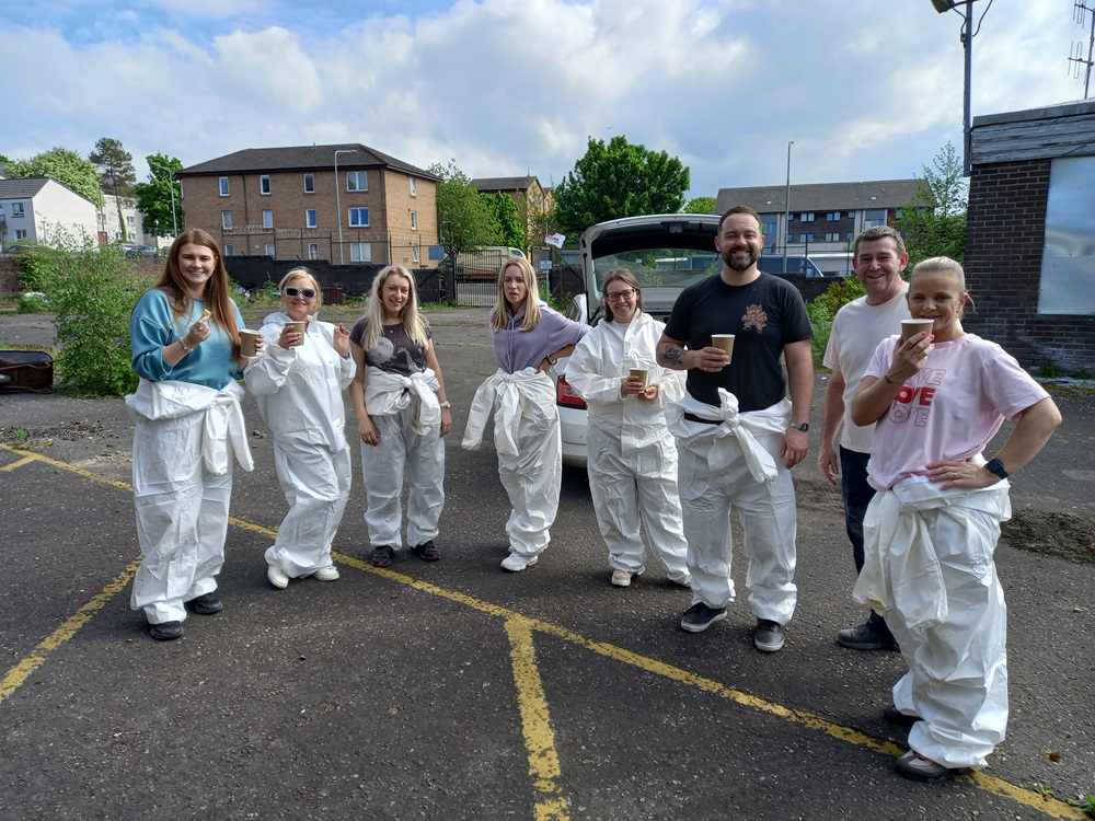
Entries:
{"type": "Polygon", "coordinates": [[[911,724],[901,775],[938,780],[986,766],[1007,726],[1006,609],[992,554],[1011,517],[1008,474],[1041,450],[1057,405],[999,345],[963,329],[961,266],[926,259],[909,278],[932,332],[884,339],[852,403],[875,425],[857,601],[886,618],[909,672],[886,715],[911,724]],[[1004,419],[1017,419],[986,463],[1004,419]]]}

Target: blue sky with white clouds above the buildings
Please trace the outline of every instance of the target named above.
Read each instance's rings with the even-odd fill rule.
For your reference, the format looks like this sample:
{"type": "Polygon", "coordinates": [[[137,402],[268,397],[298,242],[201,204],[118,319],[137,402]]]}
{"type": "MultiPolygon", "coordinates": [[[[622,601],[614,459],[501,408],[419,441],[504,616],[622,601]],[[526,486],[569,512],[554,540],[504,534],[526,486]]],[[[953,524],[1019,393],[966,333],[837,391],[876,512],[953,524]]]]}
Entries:
{"type": "MultiPolygon", "coordinates": [[[[975,2],[975,117],[1083,97],[1073,5],[975,2]]],[[[691,196],[782,184],[791,140],[795,183],[902,178],[961,150],[960,28],[931,0],[31,0],[0,28],[0,153],[114,137],[145,178],[157,151],[362,142],[552,185],[623,135],[691,196]]]]}

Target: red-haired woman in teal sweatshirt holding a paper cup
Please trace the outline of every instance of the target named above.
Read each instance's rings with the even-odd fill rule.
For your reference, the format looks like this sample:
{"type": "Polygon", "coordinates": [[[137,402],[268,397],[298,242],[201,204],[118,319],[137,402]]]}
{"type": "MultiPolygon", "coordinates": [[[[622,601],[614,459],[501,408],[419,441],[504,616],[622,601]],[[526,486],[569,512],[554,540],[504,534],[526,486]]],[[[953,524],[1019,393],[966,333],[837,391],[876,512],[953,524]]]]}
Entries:
{"type": "MultiPolygon", "coordinates": [[[[232,455],[253,467],[235,380],[254,361],[240,355],[243,319],[229,297],[217,241],[200,229],[171,244],[163,275],[137,300],[130,320],[137,391],[134,505],[142,560],[130,606],[159,641],[183,635],[187,610],[223,610],[232,455]]],[[[261,350],[260,350],[261,352],[261,350]]]]}

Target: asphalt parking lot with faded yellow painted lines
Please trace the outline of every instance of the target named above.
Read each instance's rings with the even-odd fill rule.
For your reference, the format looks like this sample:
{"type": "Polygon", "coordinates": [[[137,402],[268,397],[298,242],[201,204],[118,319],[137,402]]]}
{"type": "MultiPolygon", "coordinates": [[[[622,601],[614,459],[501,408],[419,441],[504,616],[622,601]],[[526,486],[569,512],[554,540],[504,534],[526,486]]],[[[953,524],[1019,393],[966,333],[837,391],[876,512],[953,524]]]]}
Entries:
{"type": "MultiPolygon", "coordinates": [[[[249,400],[256,469],[235,476],[226,610],[192,615],[172,643],[128,608],[123,403],[0,395],[0,819],[1086,818],[1065,800],[1095,791],[1095,565],[1001,544],[1008,738],[984,773],[901,779],[904,736],[881,717],[901,659],[833,641],[863,614],[816,451],[795,471],[799,606],[781,652],[752,648],[744,595],[690,635],[688,593],[654,564],[613,588],[580,473],[540,563],[498,568],[495,454],[489,439],[460,448],[495,368],[486,315],[430,314],[454,421],[442,559],[368,564],[356,467],[342,578],[272,588],[263,551],[285,500],[249,400]]],[[[33,327],[7,319],[0,347],[25,343],[33,327]]],[[[1013,504],[1082,530],[1095,414],[1085,396],[1061,404],[1013,504]]]]}

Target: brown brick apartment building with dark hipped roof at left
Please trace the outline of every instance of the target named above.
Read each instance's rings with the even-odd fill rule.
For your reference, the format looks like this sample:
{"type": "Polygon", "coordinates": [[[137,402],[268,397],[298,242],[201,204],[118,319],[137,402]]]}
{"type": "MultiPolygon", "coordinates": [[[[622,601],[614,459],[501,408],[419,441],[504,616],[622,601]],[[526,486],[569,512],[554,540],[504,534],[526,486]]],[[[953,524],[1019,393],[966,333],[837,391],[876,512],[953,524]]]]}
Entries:
{"type": "Polygon", "coordinates": [[[436,265],[437,177],[368,146],[244,149],[176,176],[186,228],[226,256],[436,265]]]}

